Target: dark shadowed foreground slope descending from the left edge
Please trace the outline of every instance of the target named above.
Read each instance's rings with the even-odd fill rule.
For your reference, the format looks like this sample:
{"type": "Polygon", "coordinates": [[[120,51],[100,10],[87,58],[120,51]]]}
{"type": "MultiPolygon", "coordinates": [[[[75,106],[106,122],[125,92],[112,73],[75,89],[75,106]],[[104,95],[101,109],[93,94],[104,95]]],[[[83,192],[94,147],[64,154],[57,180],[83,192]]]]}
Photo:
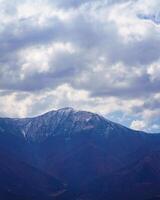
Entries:
{"type": "Polygon", "coordinates": [[[0,199],[50,200],[65,191],[67,188],[59,180],[9,154],[0,153],[0,199]]]}

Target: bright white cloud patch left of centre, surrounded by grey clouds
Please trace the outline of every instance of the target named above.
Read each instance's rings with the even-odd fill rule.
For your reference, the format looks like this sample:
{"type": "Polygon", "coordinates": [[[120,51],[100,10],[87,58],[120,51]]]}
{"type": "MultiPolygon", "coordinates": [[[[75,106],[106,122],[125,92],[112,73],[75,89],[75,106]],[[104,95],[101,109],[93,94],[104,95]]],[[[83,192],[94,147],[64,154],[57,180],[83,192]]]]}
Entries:
{"type": "Polygon", "coordinates": [[[56,42],[49,45],[39,45],[29,47],[21,50],[19,53],[21,63],[21,79],[24,79],[27,75],[32,73],[45,73],[54,66],[50,63],[56,59],[59,53],[75,52],[75,48],[71,43],[60,43],[56,42]]]}

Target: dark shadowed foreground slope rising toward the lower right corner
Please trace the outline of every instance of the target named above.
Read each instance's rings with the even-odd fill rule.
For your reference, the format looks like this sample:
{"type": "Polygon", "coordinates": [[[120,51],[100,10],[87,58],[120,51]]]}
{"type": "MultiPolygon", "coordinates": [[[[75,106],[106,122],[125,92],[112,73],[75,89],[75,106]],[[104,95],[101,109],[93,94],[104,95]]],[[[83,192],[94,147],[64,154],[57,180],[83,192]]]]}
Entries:
{"type": "Polygon", "coordinates": [[[159,199],[160,152],[152,152],[130,166],[108,176],[97,177],[86,186],[91,199],[159,199]]]}

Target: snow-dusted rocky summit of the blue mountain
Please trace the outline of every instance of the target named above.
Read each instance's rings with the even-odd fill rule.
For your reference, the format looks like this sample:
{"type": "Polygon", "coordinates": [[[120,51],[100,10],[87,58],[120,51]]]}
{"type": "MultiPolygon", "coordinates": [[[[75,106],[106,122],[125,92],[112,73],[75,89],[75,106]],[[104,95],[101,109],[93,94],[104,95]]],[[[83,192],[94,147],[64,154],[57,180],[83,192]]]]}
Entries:
{"type": "Polygon", "coordinates": [[[43,141],[50,136],[64,135],[70,138],[76,134],[94,133],[108,135],[124,129],[104,117],[86,111],[76,111],[66,107],[27,119],[10,119],[21,135],[29,141],[43,141]]]}

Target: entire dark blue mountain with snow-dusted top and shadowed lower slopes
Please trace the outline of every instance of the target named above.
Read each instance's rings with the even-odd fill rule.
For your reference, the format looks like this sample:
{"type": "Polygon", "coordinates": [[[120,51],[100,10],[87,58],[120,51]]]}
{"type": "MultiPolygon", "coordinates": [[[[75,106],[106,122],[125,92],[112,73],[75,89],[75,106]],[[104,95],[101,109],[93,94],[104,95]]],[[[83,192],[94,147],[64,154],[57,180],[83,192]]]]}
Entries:
{"type": "Polygon", "coordinates": [[[160,134],[91,112],[0,118],[0,152],[4,200],[160,199],[160,134]]]}

